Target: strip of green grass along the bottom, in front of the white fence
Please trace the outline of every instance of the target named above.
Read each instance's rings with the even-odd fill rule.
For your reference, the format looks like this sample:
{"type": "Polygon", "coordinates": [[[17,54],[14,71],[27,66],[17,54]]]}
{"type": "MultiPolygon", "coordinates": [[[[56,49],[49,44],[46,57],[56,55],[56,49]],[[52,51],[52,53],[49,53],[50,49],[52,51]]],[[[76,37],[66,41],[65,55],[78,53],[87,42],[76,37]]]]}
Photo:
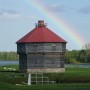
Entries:
{"type": "Polygon", "coordinates": [[[90,83],[88,84],[47,84],[47,85],[11,85],[7,83],[0,83],[1,90],[90,90],[90,83]]]}

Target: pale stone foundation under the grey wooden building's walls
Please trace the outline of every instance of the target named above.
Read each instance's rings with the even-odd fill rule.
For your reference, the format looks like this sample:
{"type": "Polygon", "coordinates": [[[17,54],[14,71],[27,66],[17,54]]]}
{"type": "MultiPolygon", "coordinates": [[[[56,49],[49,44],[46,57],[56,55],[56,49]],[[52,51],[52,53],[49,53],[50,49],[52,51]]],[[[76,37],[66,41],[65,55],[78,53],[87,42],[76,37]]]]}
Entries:
{"type": "Polygon", "coordinates": [[[27,69],[27,73],[59,73],[65,72],[65,68],[27,69]]]}

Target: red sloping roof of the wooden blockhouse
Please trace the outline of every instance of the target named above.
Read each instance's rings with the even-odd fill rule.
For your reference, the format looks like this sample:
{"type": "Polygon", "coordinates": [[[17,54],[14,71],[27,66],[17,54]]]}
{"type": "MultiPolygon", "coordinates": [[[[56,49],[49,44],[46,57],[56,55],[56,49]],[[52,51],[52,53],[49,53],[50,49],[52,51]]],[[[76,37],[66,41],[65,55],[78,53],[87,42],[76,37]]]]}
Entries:
{"type": "Polygon", "coordinates": [[[42,24],[42,21],[41,21],[41,24],[38,23],[35,29],[33,29],[28,34],[26,34],[16,43],[31,43],[31,42],[63,42],[63,43],[66,43],[64,39],[62,39],[57,34],[49,30],[46,27],[46,25],[44,25],[44,22],[42,24]]]}

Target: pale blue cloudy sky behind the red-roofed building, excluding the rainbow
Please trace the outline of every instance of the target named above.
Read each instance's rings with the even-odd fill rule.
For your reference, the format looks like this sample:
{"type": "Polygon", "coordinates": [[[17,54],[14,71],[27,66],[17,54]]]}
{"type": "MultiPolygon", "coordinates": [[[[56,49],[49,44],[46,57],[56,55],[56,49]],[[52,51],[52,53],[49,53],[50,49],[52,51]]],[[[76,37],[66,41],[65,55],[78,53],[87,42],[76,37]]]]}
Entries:
{"type": "Polygon", "coordinates": [[[38,20],[44,20],[48,28],[64,38],[68,50],[81,49],[72,37],[60,32],[44,15],[47,12],[41,12],[32,1],[41,2],[43,12],[46,9],[67,22],[80,38],[90,43],[90,0],[0,0],[0,51],[16,51],[15,42],[31,31],[38,20]]]}

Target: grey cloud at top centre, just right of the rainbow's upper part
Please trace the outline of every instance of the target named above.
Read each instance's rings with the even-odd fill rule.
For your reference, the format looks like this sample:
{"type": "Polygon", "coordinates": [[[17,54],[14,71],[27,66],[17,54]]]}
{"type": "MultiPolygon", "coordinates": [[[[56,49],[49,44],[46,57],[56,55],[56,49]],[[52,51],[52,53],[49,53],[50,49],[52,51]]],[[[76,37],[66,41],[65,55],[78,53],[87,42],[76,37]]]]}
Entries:
{"type": "Polygon", "coordinates": [[[50,12],[64,12],[65,11],[64,6],[61,6],[58,4],[47,6],[46,9],[50,12]]]}

